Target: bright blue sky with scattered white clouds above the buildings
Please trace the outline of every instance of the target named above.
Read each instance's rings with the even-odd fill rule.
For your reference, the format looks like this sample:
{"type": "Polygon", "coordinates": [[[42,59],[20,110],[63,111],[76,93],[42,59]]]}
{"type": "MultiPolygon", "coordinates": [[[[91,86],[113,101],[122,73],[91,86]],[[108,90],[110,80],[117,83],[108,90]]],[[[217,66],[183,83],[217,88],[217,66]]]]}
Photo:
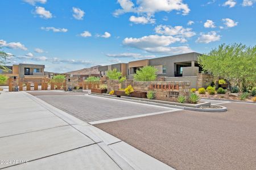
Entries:
{"type": "Polygon", "coordinates": [[[1,0],[11,63],[59,73],[187,52],[255,45],[256,0],[1,0]]]}

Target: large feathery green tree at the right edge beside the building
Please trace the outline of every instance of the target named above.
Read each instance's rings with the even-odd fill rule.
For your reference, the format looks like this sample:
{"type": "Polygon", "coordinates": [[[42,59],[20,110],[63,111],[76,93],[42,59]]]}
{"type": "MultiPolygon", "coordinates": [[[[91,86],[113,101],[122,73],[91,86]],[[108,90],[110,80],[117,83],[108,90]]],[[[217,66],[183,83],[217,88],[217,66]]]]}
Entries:
{"type": "Polygon", "coordinates": [[[204,71],[225,79],[229,88],[239,86],[246,91],[256,84],[256,46],[222,44],[198,61],[204,71]]]}

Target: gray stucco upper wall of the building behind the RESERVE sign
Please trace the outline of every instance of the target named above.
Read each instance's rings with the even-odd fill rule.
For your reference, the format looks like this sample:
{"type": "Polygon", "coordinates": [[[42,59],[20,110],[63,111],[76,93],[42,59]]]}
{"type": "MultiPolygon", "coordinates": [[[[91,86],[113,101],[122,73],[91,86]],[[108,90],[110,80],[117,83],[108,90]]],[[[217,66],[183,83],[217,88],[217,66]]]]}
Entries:
{"type": "Polygon", "coordinates": [[[175,66],[174,63],[177,62],[186,62],[186,61],[197,61],[197,57],[200,56],[200,53],[186,53],[179,54],[175,56],[167,56],[160,58],[150,59],[150,65],[166,65],[166,74],[159,74],[159,76],[174,76],[175,66]]]}

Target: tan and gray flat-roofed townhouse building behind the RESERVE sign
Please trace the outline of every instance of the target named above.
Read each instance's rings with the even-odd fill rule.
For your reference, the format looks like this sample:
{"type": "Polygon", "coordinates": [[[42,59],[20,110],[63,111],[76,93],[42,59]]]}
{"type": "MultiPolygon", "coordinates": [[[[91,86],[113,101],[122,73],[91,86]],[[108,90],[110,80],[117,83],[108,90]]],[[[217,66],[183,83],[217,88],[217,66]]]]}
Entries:
{"type": "Polygon", "coordinates": [[[202,70],[197,63],[197,58],[200,55],[200,53],[192,52],[167,57],[142,59],[138,61],[131,61],[129,63],[100,66],[99,71],[101,77],[105,77],[108,70],[116,68],[118,71],[121,71],[122,76],[126,76],[127,79],[133,79],[133,74],[135,74],[139,68],[144,66],[154,66],[158,69],[158,76],[196,76],[197,73],[200,73],[202,70]]]}

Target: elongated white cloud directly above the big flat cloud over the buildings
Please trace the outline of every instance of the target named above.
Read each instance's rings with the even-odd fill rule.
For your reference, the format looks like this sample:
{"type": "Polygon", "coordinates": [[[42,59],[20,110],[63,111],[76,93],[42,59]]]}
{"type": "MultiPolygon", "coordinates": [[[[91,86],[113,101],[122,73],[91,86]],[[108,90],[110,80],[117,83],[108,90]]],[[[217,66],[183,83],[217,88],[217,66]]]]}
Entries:
{"type": "Polygon", "coordinates": [[[155,27],[155,32],[162,35],[178,36],[178,37],[192,37],[196,33],[192,31],[192,28],[183,28],[182,26],[171,27],[168,25],[158,25],[155,27]]]}

